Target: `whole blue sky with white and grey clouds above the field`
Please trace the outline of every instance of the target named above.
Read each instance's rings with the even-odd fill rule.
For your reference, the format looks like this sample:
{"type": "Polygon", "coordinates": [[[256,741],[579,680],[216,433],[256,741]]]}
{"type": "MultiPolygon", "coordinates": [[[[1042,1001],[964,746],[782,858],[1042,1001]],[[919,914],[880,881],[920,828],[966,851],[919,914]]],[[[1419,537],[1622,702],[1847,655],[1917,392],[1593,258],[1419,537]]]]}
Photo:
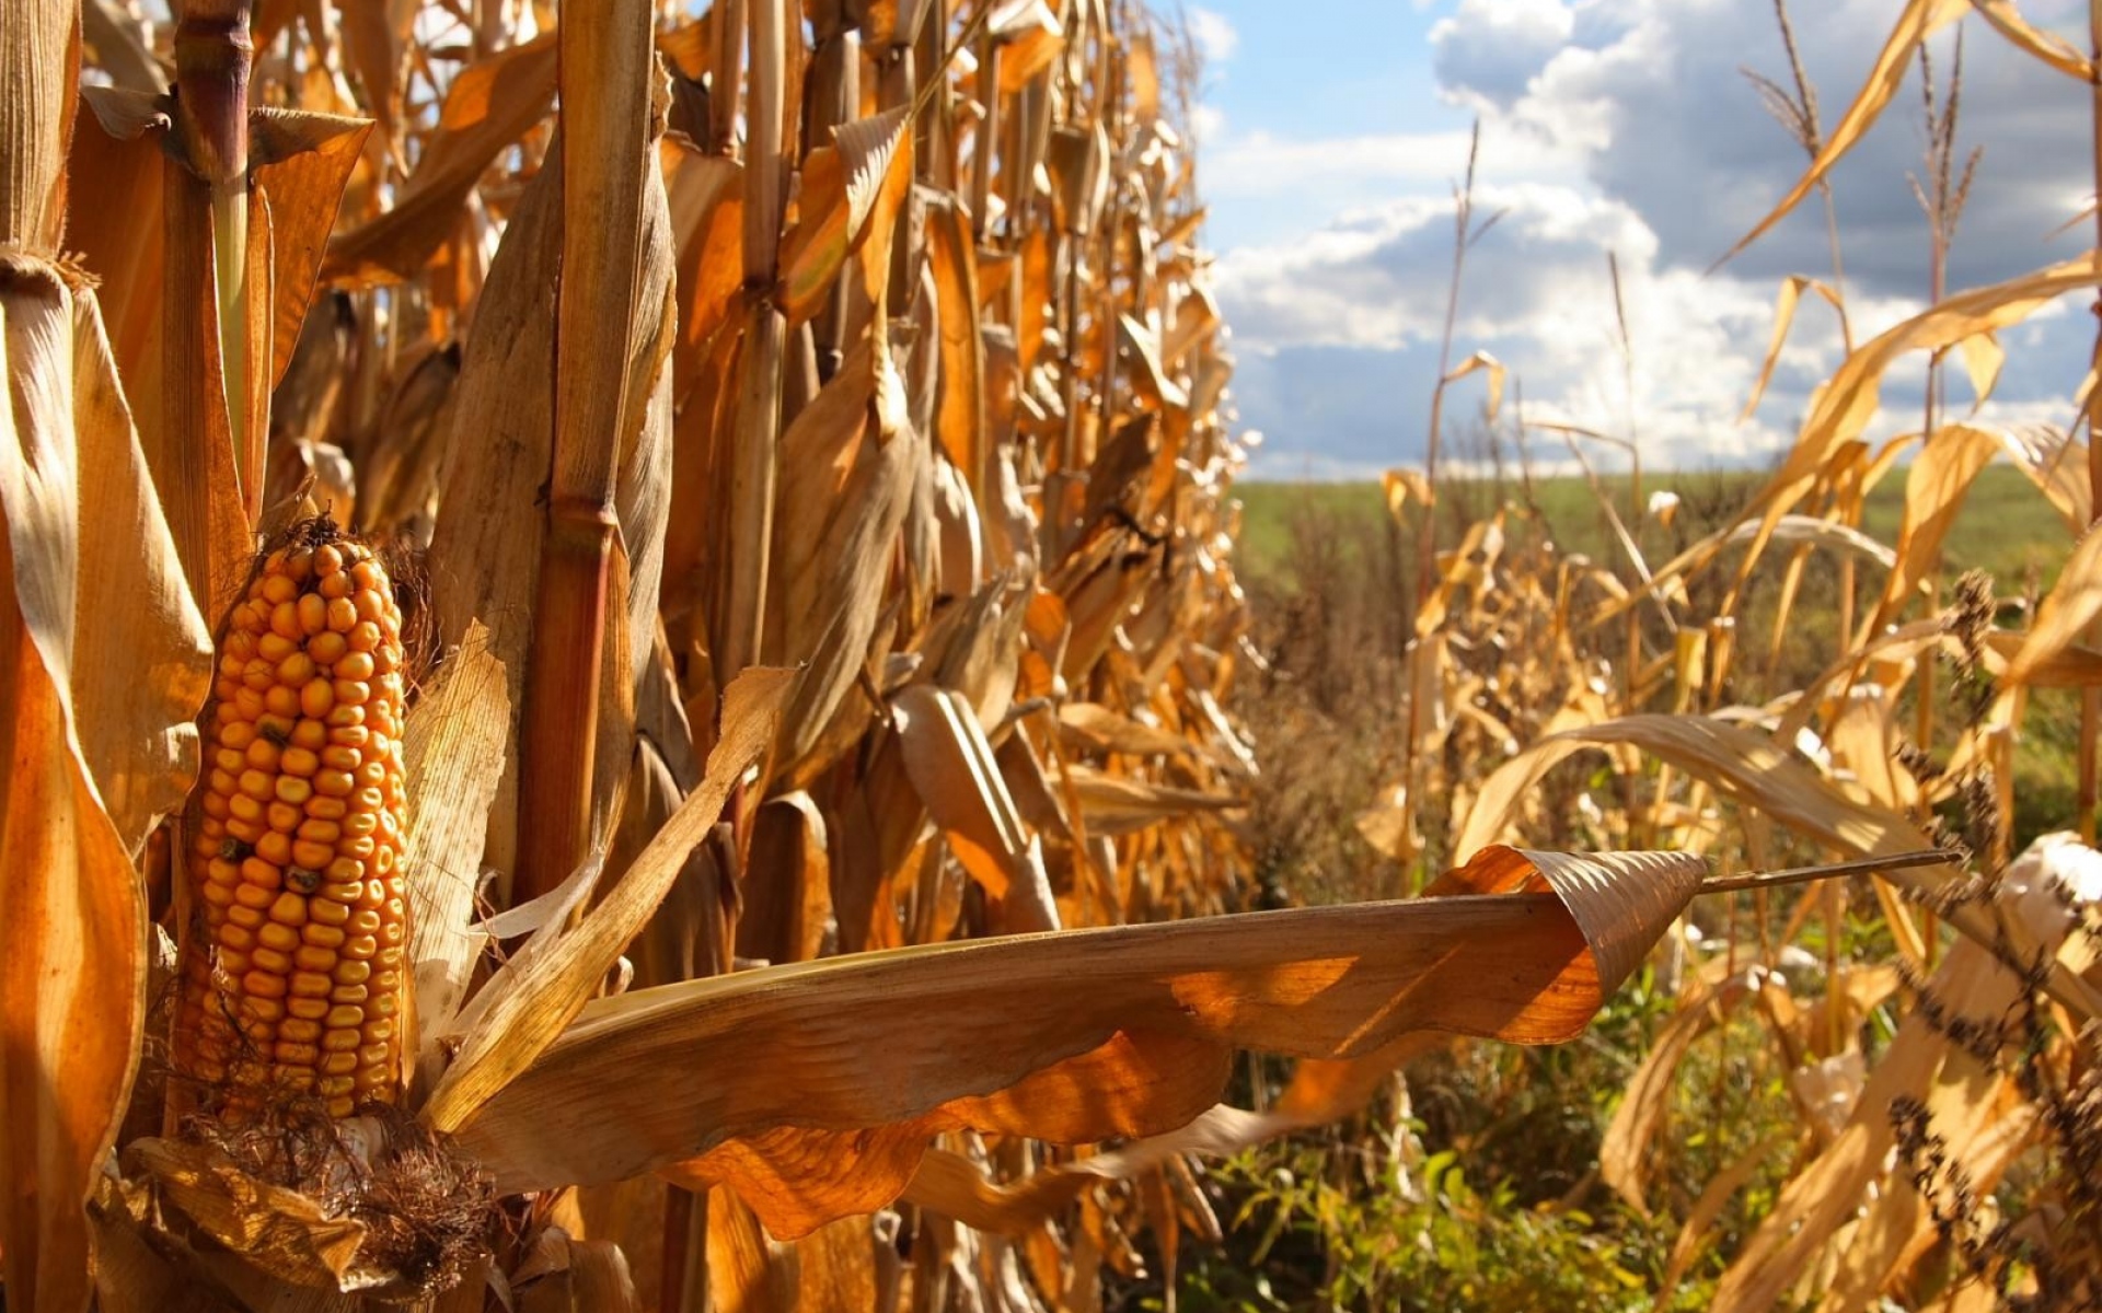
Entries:
{"type": "MultiPolygon", "coordinates": [[[[2020,8],[2083,34],[2079,0],[2020,8]]],[[[1791,11],[1831,126],[1898,4],[1791,11]]],[[[1198,185],[1240,422],[1265,439],[1255,477],[1362,477],[1421,458],[1450,185],[1476,118],[1480,206],[1503,218],[1469,254],[1457,353],[1503,359],[1530,418],[1633,433],[1656,464],[1751,464],[1787,443],[1837,363],[1835,321],[1806,311],[1768,399],[1738,422],[1780,279],[1831,277],[1810,206],[1705,275],[1804,168],[1740,76],[1749,65],[1787,78],[1768,0],[1209,0],[1183,15],[1209,55],[1198,185]],[[1608,252],[1633,336],[1631,389],[1608,252]]],[[[2052,231],[2094,193],[2085,88],[1976,19],[1967,27],[1961,141],[1984,155],[1957,288],[2079,254],[2085,229],[2052,231]]],[[[1934,53],[1946,76],[1949,42],[1934,53]]],[[[1917,105],[1915,74],[1835,176],[1856,336],[1925,303],[1928,229],[1907,181],[1925,141],[1917,105]]],[[[2010,334],[1980,418],[2064,424],[2091,332],[2068,298],[2010,334]]],[[[1879,433],[1900,433],[1917,410],[1921,368],[1892,376],[1879,433]]],[[[1457,405],[1465,429],[1474,401],[1457,405]]]]}

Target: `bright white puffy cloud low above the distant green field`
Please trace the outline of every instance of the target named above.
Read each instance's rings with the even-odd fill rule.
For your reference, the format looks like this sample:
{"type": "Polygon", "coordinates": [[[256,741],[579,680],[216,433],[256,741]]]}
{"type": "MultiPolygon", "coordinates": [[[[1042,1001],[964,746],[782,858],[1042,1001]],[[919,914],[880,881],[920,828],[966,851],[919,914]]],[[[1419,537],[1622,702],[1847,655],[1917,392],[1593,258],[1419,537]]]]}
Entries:
{"type": "MultiPolygon", "coordinates": [[[[1736,422],[1772,313],[1764,294],[1688,271],[1652,275],[1656,237],[1621,202],[1520,185],[1486,187],[1478,206],[1501,218],[1467,252],[1457,342],[1518,374],[1528,418],[1625,431],[1640,416],[1646,445],[1679,464],[1745,460],[1780,441],[1770,422],[1736,422]],[[1608,250],[1625,273],[1633,372],[1608,250]]],[[[1270,435],[1263,473],[1362,473],[1423,454],[1452,237],[1448,204],[1402,200],[1221,258],[1242,418],[1270,435]]],[[[1799,349],[1820,332],[1835,336],[1806,315],[1799,349]]],[[[1810,382],[1791,374],[1776,393],[1810,382]]],[[[1455,414],[1469,405],[1457,401],[1455,414]]]]}

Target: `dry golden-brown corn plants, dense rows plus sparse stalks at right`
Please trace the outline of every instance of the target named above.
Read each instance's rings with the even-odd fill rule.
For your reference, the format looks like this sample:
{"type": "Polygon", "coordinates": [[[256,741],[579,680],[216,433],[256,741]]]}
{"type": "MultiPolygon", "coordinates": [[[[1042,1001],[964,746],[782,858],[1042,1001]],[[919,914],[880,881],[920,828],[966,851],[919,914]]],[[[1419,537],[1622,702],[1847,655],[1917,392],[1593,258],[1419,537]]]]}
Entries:
{"type": "MultiPolygon", "coordinates": [[[[1902,6],[1780,212],[1967,13],[1902,6]]],[[[2102,254],[1862,342],[1671,561],[1560,557],[1518,504],[1440,550],[1436,466],[1398,471],[1421,574],[1362,828],[1421,893],[1257,912],[1177,25],[32,0],[0,42],[8,1307],[1173,1307],[1225,1229],[1209,1158],[1425,1053],[1572,1040],[1652,954],[1679,1013],[1612,1191],[1677,1208],[1675,1063],[1732,1008],[1804,1103],[1715,1307],[2102,1298],[2102,859],[1993,824],[2031,697],[2083,716],[2094,815],[2094,378],[2066,431],[1864,437],[1898,359],[1988,391],[2102,254]],[[1997,456],[2068,529],[2020,609],[1936,567],[1997,456]],[[1806,687],[1747,672],[1776,553],[1776,647],[1843,559],[1806,687]],[[1848,899],[1888,960],[1833,933],[1820,992],[1776,983],[1848,899]]],[[[1843,311],[1791,284],[1776,353],[1806,290],[1843,311]]],[[[1749,1170],[1684,1208],[1688,1267],[1749,1170]]]]}

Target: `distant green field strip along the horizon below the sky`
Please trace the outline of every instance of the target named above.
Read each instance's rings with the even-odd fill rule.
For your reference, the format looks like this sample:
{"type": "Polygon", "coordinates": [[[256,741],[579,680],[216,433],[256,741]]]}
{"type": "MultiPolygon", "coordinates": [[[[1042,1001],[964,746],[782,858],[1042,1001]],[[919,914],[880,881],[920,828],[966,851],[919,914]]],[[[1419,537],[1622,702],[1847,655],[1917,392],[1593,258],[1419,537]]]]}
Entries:
{"type": "MultiPolygon", "coordinates": [[[[1614,498],[1614,508],[1627,519],[1631,510],[1627,479],[1606,477],[1602,485],[1614,498]]],[[[1679,492],[1684,498],[1682,515],[1717,517],[1743,506],[1757,492],[1759,475],[1646,475],[1642,496],[1648,498],[1658,487],[1679,492]]],[[[1463,500],[1474,513],[1482,513],[1499,500],[1497,485],[1488,481],[1455,481],[1450,489],[1450,496],[1463,500]]],[[[1520,500],[1524,489],[1516,481],[1505,481],[1501,492],[1505,500],[1520,500]]],[[[1234,496],[1244,506],[1240,563],[1251,580],[1280,580],[1293,519],[1299,515],[1316,517],[1324,529],[1352,538],[1387,532],[1387,510],[1379,483],[1240,483],[1234,487],[1234,496]]],[[[1598,508],[1598,498],[1581,477],[1534,479],[1532,500],[1564,550],[1585,553],[1600,561],[1612,559],[1616,548],[1610,527],[1598,508]]],[[[1862,532],[1877,542],[1896,542],[1902,517],[1904,473],[1894,471],[1869,496],[1862,532]]],[[[1637,540],[1652,555],[1652,565],[1669,557],[1671,538],[1658,525],[1629,523],[1637,527],[1637,540]]],[[[1450,538],[1450,529],[1440,534],[1442,544],[1450,538]]],[[[2047,584],[2068,550],[2066,523],[2043,500],[2043,494],[2020,471],[1993,464],[1965,496],[1955,527],[1942,544],[1942,563],[1949,571],[1984,569],[2001,592],[2018,595],[2026,588],[2031,571],[2047,584]]]]}

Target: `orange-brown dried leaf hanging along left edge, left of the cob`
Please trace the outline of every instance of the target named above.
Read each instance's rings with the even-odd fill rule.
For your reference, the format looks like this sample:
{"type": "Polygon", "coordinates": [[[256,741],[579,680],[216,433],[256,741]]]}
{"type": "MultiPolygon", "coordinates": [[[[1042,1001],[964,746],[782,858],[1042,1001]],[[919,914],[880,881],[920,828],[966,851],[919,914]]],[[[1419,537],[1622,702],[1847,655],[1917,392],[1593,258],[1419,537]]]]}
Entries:
{"type": "MultiPolygon", "coordinates": [[[[19,23],[0,23],[15,29],[19,23]]],[[[166,534],[149,567],[111,574],[116,523],[151,529],[149,487],[107,378],[92,300],[76,303],[55,267],[0,260],[0,918],[15,939],[0,964],[0,1252],[8,1300],[78,1309],[88,1300],[86,1200],[118,1134],[145,1025],[145,899],[90,763],[74,700],[95,708],[95,748],[126,807],[132,842],[193,763],[189,712],[202,622],[183,597],[166,534]],[[84,366],[84,368],[82,368],[84,366]],[[80,378],[78,374],[84,374],[80,378]],[[80,410],[76,410],[76,405],[80,410]],[[78,424],[78,429],[76,429],[78,424]],[[88,485],[88,477],[107,477],[88,485]],[[82,651],[78,605],[130,599],[90,637],[132,643],[82,651]],[[126,620],[137,626],[122,632],[126,620]],[[118,628],[111,628],[118,626],[118,628]],[[122,634],[122,637],[120,637],[122,634]],[[164,662],[170,687],[122,689],[116,662],[164,662]],[[78,689],[76,689],[78,679],[78,689]],[[177,716],[170,723],[170,714],[177,716]],[[132,752],[139,756],[135,758],[132,752]],[[120,781],[124,771],[137,777],[120,781]]],[[[122,540],[132,553],[139,540],[122,540]]]]}

